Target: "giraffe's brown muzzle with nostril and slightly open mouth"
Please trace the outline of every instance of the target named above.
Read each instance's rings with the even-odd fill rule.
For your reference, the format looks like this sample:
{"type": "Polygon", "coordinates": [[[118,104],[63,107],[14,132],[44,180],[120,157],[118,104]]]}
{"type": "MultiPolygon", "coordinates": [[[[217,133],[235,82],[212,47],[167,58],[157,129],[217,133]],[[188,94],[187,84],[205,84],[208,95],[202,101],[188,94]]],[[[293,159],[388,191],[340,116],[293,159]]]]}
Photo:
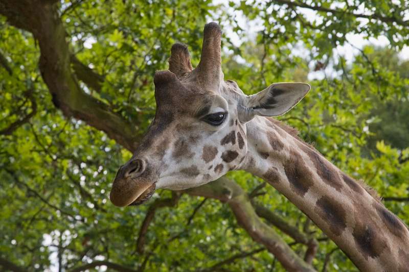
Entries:
{"type": "Polygon", "coordinates": [[[156,188],[157,175],[144,159],[131,159],[122,165],[109,194],[113,205],[139,205],[149,200],[156,188]]]}

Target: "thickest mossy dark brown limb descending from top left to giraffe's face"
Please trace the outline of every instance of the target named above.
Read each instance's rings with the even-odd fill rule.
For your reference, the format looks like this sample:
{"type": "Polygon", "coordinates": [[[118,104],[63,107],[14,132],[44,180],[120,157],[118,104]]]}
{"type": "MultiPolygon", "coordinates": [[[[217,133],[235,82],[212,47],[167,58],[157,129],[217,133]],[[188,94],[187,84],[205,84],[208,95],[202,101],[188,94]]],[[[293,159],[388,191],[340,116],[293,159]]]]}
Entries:
{"type": "Polygon", "coordinates": [[[3,0],[0,2],[0,14],[14,26],[30,31],[38,40],[40,72],[53,96],[54,105],[65,116],[84,120],[133,151],[140,139],[137,127],[113,112],[108,105],[86,94],[72,73],[71,54],[56,4],[39,0],[3,0]]]}

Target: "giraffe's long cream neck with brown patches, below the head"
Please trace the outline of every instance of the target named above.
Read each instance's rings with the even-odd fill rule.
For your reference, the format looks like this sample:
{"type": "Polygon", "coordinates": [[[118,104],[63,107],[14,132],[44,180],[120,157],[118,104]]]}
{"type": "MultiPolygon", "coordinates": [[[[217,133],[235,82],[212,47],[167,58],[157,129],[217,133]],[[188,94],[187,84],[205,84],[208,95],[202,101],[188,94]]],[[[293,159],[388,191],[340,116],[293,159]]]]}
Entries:
{"type": "Polygon", "coordinates": [[[409,231],[378,199],[278,121],[252,123],[247,171],[284,194],[360,270],[409,269],[409,231]]]}

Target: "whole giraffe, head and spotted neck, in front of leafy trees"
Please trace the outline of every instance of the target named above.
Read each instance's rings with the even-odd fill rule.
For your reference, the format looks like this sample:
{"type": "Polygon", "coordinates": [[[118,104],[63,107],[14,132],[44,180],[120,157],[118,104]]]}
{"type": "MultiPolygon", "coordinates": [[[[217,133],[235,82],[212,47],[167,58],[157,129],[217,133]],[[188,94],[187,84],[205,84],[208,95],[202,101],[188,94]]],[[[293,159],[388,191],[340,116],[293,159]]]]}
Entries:
{"type": "Polygon", "coordinates": [[[198,66],[186,45],[171,48],[154,76],[156,113],[132,158],[117,172],[110,200],[139,205],[155,189],[183,190],[243,169],[303,211],[362,271],[408,271],[409,230],[361,183],[271,117],[294,107],[306,83],[275,83],[245,95],[224,81],[221,28],[206,24],[198,66]]]}

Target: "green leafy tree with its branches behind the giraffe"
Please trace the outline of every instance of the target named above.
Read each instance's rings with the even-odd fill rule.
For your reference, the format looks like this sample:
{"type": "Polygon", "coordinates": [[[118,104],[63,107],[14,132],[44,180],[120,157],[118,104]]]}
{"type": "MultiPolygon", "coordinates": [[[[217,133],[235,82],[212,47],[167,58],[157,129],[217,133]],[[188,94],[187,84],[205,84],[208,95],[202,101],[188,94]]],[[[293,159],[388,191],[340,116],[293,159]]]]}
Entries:
{"type": "MultiPolygon", "coordinates": [[[[368,126],[368,113],[379,105],[374,101],[407,101],[407,77],[379,65],[368,49],[351,65],[332,51],[348,42],[348,33],[385,35],[399,50],[409,35],[402,19],[407,3],[230,6],[260,20],[263,29],[239,48],[224,38],[234,52],[225,56],[225,78],[251,93],[293,81],[294,75],[305,78],[309,67],[333,67],[332,75],[311,82],[313,92],[301,107],[280,119],[338,167],[374,187],[408,224],[407,146],[397,150],[378,141],[379,154],[360,156],[370,133],[376,133],[368,126]],[[300,8],[316,12],[314,20],[300,8]],[[309,56],[291,54],[299,42],[309,56]]],[[[3,268],[282,269],[269,254],[268,243],[276,241],[291,246],[284,254],[301,256],[316,269],[354,269],[298,209],[244,172],[199,192],[161,191],[138,208],[107,202],[116,170],[153,117],[152,75],[166,69],[171,44],[188,44],[197,63],[206,16],[245,36],[220,7],[196,1],[3,0],[0,13],[3,268]],[[220,184],[243,197],[223,205],[220,184]],[[248,232],[243,218],[249,217],[261,231],[248,232]]]]}

